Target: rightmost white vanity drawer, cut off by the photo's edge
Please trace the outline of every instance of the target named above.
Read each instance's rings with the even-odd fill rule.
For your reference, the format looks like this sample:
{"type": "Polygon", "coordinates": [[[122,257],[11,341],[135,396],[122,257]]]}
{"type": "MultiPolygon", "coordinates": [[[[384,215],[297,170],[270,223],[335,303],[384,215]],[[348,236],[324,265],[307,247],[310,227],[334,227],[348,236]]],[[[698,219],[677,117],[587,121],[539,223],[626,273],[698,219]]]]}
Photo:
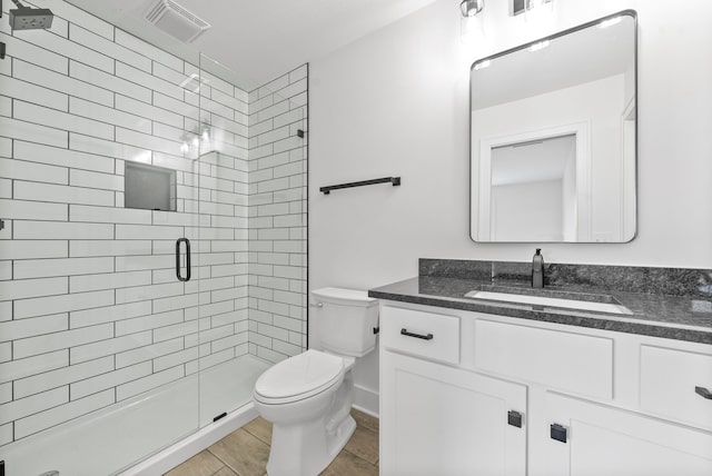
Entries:
{"type": "Polygon", "coordinates": [[[712,399],[695,387],[712,391],[712,355],[641,346],[643,410],[712,428],[712,399]]]}

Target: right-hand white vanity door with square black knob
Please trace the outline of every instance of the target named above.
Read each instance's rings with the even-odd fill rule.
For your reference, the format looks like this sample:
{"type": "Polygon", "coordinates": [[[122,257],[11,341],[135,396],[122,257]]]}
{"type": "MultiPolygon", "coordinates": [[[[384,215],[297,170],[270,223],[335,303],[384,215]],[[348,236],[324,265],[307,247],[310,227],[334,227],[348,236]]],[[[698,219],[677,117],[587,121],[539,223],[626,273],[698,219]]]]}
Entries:
{"type": "Polygon", "coordinates": [[[547,407],[547,424],[563,427],[566,442],[553,439],[550,426],[532,428],[551,465],[533,475],[712,475],[710,433],[560,395],[547,407]]]}

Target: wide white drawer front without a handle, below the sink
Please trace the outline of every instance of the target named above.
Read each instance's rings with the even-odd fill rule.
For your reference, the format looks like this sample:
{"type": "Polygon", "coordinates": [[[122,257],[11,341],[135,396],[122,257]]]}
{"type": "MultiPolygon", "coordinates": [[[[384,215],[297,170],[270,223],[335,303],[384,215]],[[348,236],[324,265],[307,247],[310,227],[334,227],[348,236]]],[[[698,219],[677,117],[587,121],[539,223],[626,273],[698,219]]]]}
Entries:
{"type": "Polygon", "coordinates": [[[613,398],[613,340],[603,337],[478,319],[475,365],[553,389],[613,398]]]}

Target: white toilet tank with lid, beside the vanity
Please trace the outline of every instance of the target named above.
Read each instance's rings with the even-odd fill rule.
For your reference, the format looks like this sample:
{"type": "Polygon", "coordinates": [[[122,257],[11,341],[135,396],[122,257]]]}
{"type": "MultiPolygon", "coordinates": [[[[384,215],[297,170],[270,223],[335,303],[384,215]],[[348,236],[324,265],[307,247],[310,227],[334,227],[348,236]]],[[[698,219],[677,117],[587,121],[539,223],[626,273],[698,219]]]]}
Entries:
{"type": "Polygon", "coordinates": [[[322,346],[332,353],[363,357],[376,347],[378,300],[355,289],[322,288],[312,291],[322,346]]]}

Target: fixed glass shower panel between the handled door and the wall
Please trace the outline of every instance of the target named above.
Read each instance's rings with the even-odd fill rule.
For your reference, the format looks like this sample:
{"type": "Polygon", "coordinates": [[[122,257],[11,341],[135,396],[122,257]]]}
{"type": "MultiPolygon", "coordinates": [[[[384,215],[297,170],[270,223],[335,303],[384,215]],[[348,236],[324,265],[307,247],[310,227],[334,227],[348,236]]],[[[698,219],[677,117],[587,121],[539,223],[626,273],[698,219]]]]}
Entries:
{"type": "Polygon", "coordinates": [[[250,93],[205,54],[197,75],[204,427],[238,422],[259,375],[306,348],[307,66],[250,93]]]}

